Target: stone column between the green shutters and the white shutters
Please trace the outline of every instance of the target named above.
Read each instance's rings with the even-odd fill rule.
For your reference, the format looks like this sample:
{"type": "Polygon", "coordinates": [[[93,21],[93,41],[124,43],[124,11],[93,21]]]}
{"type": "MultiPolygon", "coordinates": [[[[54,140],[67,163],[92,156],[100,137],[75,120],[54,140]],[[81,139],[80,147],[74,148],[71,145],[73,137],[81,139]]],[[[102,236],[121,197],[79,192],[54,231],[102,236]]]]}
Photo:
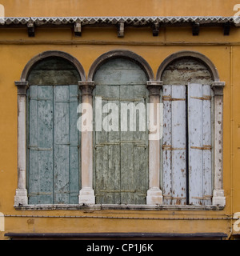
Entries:
{"type": "MultiPolygon", "coordinates": [[[[154,124],[157,124],[157,108],[160,106],[160,89],[162,82],[149,81],[149,102],[154,104],[154,124]]],[[[160,114],[160,113],[159,113],[160,114]]],[[[160,117],[158,117],[160,118],[160,117]]],[[[158,119],[159,120],[159,119],[158,119]]],[[[153,121],[153,120],[152,120],[153,121]]],[[[160,125],[160,124],[159,124],[160,125]]],[[[160,127],[159,133],[160,133],[160,127]]],[[[162,204],[162,190],[160,190],[160,134],[153,139],[155,131],[149,130],[149,190],[147,190],[146,204],[162,204]]]]}

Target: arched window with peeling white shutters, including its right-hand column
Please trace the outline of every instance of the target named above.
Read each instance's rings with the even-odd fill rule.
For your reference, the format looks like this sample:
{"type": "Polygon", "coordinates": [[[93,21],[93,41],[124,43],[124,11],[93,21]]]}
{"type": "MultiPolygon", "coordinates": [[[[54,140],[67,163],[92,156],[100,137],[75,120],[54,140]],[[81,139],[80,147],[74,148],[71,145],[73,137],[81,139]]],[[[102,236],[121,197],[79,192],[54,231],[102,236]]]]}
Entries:
{"type": "Polygon", "coordinates": [[[166,205],[225,205],[219,154],[222,94],[214,90],[214,83],[220,82],[214,82],[217,72],[207,64],[200,54],[180,53],[158,70],[163,103],[161,185],[166,205]]]}

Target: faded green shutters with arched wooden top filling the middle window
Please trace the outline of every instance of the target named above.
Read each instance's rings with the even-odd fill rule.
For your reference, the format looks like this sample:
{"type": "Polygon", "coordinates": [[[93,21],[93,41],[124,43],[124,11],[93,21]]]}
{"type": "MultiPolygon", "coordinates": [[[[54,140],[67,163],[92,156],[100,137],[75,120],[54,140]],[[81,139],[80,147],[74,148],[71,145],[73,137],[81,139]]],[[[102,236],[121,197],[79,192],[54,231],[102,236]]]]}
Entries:
{"type": "MultiPolygon", "coordinates": [[[[148,189],[148,133],[121,131],[122,104],[146,105],[146,74],[134,62],[118,58],[106,62],[97,71],[94,99],[102,98],[118,106],[118,131],[95,132],[94,190],[97,203],[146,204],[148,189]]],[[[111,105],[108,105],[109,107],[111,105]]],[[[125,105],[126,106],[126,105],[125,105]]],[[[128,105],[130,106],[130,105],[128,105]]],[[[107,111],[106,111],[107,112],[107,111]]],[[[102,121],[110,113],[102,114],[102,121]]],[[[129,119],[128,113],[128,119],[129,119]]],[[[138,114],[137,114],[138,119],[138,114]]],[[[146,116],[145,116],[146,122],[146,116]]]]}

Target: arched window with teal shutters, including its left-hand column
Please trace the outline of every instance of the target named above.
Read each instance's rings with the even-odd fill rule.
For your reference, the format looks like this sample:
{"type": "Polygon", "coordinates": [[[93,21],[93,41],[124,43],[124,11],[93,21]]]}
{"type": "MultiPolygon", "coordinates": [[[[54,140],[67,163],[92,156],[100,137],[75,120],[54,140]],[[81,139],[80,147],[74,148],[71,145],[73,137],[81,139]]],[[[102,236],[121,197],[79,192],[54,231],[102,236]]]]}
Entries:
{"type": "Polygon", "coordinates": [[[40,54],[23,71],[26,81],[16,82],[20,171],[15,205],[78,204],[81,132],[77,108],[82,78],[72,59],[61,52],[40,54]]]}

